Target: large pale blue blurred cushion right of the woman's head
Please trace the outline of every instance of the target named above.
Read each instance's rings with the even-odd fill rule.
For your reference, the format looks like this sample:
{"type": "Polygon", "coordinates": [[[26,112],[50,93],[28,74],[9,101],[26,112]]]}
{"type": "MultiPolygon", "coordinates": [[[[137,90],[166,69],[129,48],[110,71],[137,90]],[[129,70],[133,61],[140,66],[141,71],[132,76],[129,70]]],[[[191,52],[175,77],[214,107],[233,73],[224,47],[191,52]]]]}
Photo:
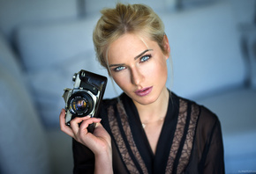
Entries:
{"type": "Polygon", "coordinates": [[[244,84],[245,62],[230,4],[161,17],[173,60],[173,91],[194,98],[244,84]]]}

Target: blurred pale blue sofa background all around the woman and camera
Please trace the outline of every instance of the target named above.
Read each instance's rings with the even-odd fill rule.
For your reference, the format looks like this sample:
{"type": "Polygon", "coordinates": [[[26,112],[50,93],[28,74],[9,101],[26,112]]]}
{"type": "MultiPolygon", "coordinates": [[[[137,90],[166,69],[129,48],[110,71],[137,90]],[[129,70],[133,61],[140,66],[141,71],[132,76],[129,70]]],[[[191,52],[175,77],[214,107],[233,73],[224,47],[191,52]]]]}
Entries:
{"type": "MultiPolygon", "coordinates": [[[[256,173],[256,0],[120,0],[162,18],[167,85],[215,112],[226,173],[256,173]]],[[[95,61],[92,33],[117,0],[0,0],[0,173],[72,173],[58,115],[72,75],[95,61]]],[[[111,83],[104,98],[120,89],[111,83]]]]}

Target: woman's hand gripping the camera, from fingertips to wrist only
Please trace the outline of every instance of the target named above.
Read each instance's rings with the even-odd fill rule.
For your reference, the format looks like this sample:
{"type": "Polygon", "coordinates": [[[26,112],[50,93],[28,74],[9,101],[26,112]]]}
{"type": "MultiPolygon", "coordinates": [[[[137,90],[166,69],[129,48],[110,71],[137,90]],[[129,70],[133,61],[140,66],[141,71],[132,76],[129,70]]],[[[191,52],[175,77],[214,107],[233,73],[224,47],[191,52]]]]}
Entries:
{"type": "Polygon", "coordinates": [[[94,152],[95,156],[103,155],[103,154],[111,154],[111,138],[108,132],[102,127],[101,119],[87,117],[76,117],[71,120],[71,127],[65,125],[65,111],[62,109],[59,120],[60,120],[60,128],[61,130],[74,138],[76,141],[87,146],[87,148],[91,149],[94,152]],[[79,126],[79,123],[80,126],[79,126]],[[94,128],[94,133],[90,133],[87,131],[88,125],[96,123],[94,128]]]}

